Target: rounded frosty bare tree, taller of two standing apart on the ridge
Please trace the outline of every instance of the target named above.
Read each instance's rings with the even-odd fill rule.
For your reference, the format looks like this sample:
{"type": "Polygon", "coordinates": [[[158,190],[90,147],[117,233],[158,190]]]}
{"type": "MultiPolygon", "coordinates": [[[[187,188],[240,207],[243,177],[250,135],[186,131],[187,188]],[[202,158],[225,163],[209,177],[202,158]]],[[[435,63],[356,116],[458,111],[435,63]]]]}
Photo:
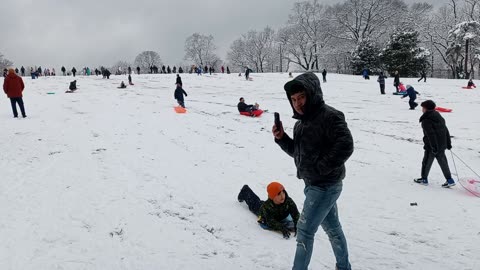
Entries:
{"type": "Polygon", "coordinates": [[[220,61],[215,54],[216,49],[212,35],[194,33],[185,40],[185,60],[193,61],[201,66],[216,66],[220,61]]]}

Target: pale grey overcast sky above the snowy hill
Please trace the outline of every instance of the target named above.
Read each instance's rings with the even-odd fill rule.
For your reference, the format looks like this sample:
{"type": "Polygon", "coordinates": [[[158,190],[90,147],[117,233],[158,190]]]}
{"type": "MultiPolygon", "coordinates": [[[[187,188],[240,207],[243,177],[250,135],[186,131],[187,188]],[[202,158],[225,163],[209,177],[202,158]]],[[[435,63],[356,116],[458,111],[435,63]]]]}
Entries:
{"type": "MultiPolygon", "coordinates": [[[[439,4],[447,0],[426,0],[439,4]]],[[[15,66],[111,66],[144,50],[171,66],[185,39],[212,34],[224,59],[248,30],[285,24],[293,0],[16,0],[0,5],[0,52],[15,66]],[[34,3],[34,4],[33,4],[34,3]]],[[[323,3],[337,1],[325,0],[323,3]]],[[[409,0],[407,3],[414,1],[409,0]]]]}

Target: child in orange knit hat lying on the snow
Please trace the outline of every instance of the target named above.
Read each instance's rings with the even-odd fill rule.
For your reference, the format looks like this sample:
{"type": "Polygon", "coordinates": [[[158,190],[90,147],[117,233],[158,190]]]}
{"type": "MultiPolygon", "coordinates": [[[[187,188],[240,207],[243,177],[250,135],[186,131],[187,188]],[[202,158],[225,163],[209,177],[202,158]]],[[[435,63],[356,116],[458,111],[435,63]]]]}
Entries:
{"type": "Polygon", "coordinates": [[[285,239],[290,238],[291,232],[296,235],[300,213],[295,202],[278,182],[268,184],[267,193],[268,199],[261,201],[248,185],[244,185],[238,194],[238,201],[247,203],[248,209],[258,216],[262,228],[281,231],[285,239]]]}

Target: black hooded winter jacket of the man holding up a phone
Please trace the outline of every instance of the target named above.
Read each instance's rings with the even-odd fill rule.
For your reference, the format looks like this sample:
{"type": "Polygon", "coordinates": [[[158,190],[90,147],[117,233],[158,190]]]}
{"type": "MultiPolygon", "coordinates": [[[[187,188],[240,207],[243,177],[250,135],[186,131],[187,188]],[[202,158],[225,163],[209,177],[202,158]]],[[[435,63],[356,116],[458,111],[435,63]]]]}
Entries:
{"type": "MultiPolygon", "coordinates": [[[[323,101],[318,77],[307,72],[294,79],[306,90],[305,112],[299,115],[293,139],[275,140],[295,160],[297,177],[306,185],[329,185],[345,178],[345,162],[353,153],[353,138],[342,112],[323,101]]],[[[287,92],[288,100],[290,95],[287,92]]]]}

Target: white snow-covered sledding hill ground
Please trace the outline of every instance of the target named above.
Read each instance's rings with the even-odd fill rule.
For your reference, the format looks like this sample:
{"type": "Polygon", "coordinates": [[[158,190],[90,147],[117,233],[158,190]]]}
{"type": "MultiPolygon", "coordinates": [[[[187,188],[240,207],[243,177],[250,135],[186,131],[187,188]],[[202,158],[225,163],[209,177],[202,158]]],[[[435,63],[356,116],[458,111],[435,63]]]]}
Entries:
{"type": "MultiPolygon", "coordinates": [[[[27,119],[0,99],[0,269],[290,269],[295,239],[261,229],[236,197],[273,180],[303,206],[293,160],[273,142],[273,112],[291,134],[286,74],[184,74],[187,114],[173,110],[175,75],[25,78],[27,119]],[[55,94],[47,94],[54,92],[55,94]],[[240,96],[268,109],[240,116],[240,96]]],[[[419,176],[419,109],[380,95],[376,77],[328,75],[328,104],[355,140],[339,199],[354,269],[480,269],[480,199],[443,189],[435,163],[419,176]],[[416,202],[418,206],[410,206],[416,202]]],[[[480,169],[480,90],[466,81],[404,79],[439,106],[453,150],[480,169]]],[[[2,79],[0,83],[3,84],[2,79]]],[[[453,164],[450,160],[452,171],[453,164]]],[[[460,176],[472,176],[457,162],[460,176]]],[[[323,231],[311,269],[333,269],[323,231]]]]}

